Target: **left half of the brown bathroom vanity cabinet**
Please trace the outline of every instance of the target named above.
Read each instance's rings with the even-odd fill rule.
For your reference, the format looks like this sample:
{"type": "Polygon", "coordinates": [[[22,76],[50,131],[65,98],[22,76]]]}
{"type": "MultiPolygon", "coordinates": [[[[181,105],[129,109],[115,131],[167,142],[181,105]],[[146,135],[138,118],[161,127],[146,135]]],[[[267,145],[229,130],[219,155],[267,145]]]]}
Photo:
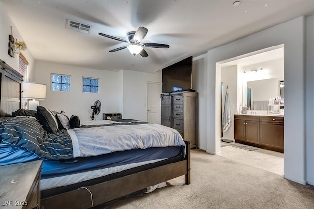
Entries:
{"type": "Polygon", "coordinates": [[[259,116],[235,115],[235,140],[260,144],[259,116]]]}

